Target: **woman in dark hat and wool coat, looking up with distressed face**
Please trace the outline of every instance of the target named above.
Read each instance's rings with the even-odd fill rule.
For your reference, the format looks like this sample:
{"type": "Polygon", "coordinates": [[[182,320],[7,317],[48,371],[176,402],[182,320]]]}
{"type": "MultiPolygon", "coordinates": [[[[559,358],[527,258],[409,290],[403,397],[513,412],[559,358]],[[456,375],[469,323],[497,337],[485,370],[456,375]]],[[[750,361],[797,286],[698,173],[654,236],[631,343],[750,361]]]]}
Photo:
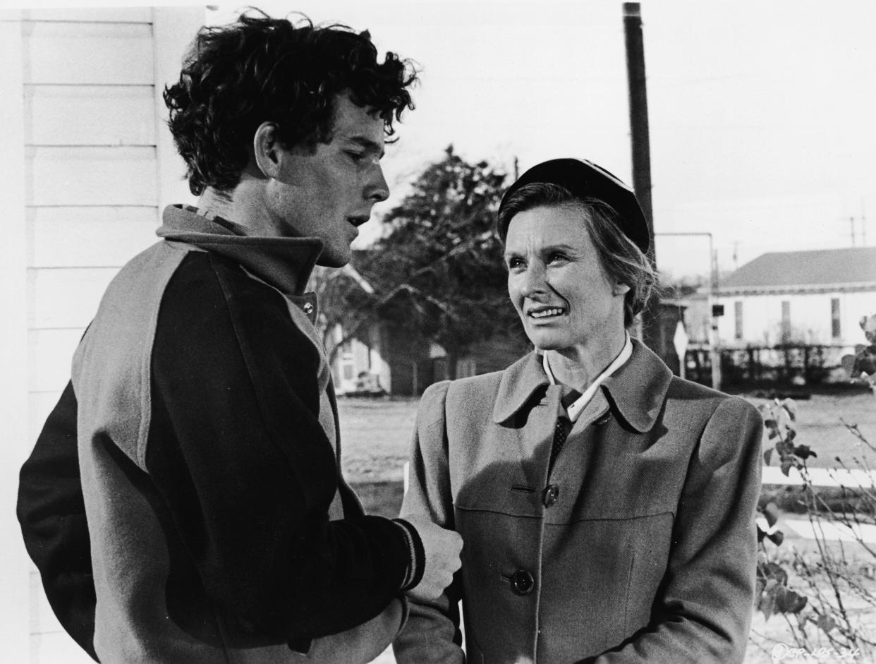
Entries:
{"type": "Polygon", "coordinates": [[[402,512],[463,536],[399,662],[739,662],[752,612],[761,420],[675,378],[626,330],[653,283],[632,191],[582,159],[498,212],[534,350],[423,395],[402,512]]]}

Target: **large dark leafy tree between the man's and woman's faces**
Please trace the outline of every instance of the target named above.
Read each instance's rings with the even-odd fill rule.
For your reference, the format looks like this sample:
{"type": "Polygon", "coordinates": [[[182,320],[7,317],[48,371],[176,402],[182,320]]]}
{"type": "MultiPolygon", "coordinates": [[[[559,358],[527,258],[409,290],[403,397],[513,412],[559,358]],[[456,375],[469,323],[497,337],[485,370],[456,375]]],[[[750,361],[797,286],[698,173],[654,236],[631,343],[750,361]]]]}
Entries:
{"type": "Polygon", "coordinates": [[[357,252],[355,269],[371,292],[337,277],[323,286],[330,295],[324,321],[343,321],[347,337],[373,321],[390,323],[413,340],[440,344],[451,371],[456,356],[497,334],[526,348],[493,232],[505,177],[486,161],[466,162],[449,146],[384,216],[384,236],[357,252]]]}

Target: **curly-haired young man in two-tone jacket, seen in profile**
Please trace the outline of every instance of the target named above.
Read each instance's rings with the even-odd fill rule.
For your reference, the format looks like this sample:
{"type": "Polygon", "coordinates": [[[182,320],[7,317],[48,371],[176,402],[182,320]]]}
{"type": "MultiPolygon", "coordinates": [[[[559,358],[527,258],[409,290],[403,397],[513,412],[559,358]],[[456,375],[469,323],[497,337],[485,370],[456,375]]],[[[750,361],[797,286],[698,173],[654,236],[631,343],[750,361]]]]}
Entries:
{"type": "Polygon", "coordinates": [[[366,516],[344,481],[304,292],[388,196],[414,79],[367,32],[244,15],[201,29],[166,89],[198,207],[167,208],[104,293],[19,488],[46,595],[95,659],[368,661],[406,593],[458,568],[456,533],[366,516]]]}

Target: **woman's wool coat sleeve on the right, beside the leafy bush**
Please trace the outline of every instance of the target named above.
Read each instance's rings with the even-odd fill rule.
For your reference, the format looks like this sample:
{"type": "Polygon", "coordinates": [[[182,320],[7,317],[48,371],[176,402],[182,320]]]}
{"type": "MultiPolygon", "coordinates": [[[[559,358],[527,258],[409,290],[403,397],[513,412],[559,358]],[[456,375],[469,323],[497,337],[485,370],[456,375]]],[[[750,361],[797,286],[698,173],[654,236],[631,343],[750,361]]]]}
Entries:
{"type": "Polygon", "coordinates": [[[680,664],[744,659],[754,600],[763,421],[724,399],[690,460],[664,578],[661,619],[587,664],[680,664]]]}

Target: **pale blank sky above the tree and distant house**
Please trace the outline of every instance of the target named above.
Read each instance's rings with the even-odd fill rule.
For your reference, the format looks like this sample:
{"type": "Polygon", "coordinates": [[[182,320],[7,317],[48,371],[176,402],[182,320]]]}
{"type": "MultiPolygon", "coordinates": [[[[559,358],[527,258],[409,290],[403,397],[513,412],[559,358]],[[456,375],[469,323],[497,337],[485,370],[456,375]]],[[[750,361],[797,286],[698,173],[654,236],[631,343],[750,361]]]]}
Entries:
{"type": "MultiPolygon", "coordinates": [[[[395,194],[384,209],[449,144],[509,169],[515,157],[521,169],[584,157],[632,181],[619,0],[252,4],[368,29],[382,51],[419,63],[417,109],[385,159],[395,194]]],[[[852,226],[862,244],[865,217],[876,219],[876,3],[641,5],[657,233],[712,233],[723,269],[850,246],[852,226]]],[[[209,14],[223,22],[242,6],[209,14]]],[[[707,272],[708,241],[658,235],[657,258],[676,276],[707,272]]]]}

